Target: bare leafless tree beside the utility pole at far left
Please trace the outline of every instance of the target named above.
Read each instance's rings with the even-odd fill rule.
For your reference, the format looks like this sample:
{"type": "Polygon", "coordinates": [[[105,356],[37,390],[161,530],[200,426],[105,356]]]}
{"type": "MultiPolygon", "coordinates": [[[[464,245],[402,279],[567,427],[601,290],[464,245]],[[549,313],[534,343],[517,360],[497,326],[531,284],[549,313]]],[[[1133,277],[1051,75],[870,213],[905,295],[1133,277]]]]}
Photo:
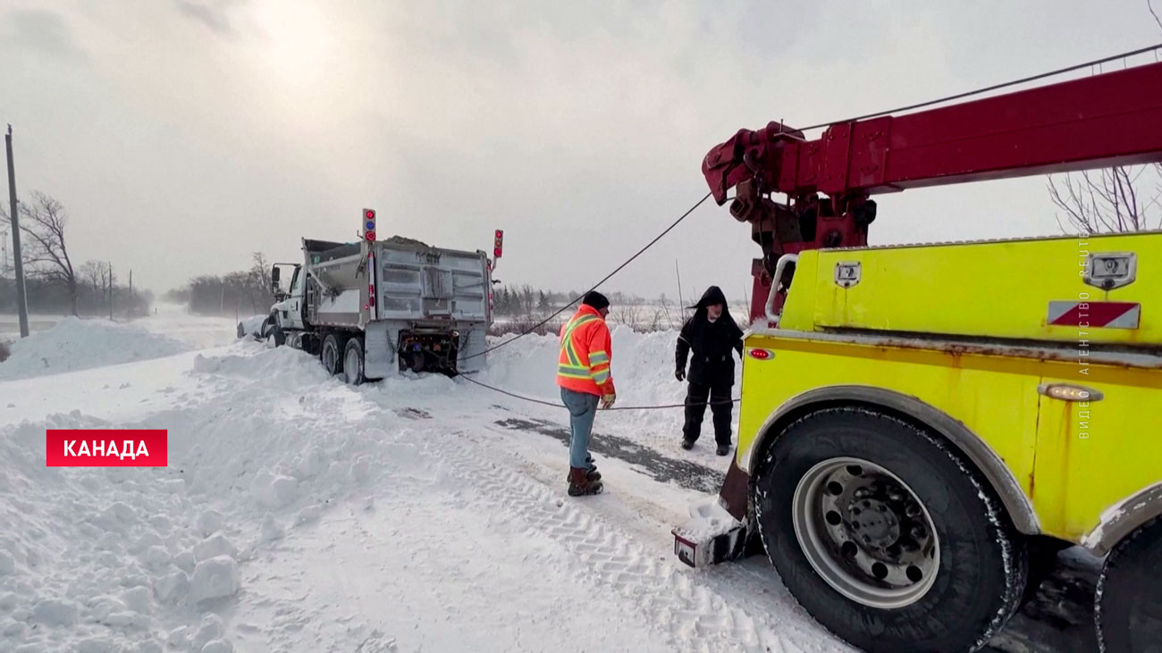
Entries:
{"type": "MultiPolygon", "coordinates": [[[[65,227],[69,217],[65,207],[52,196],[33,192],[33,203],[20,202],[20,230],[28,236],[24,263],[29,277],[37,277],[53,285],[64,286],[72,300],[72,314],[77,315],[77,273],[65,245],[65,227]]],[[[0,208],[0,216],[9,218],[0,208]]]]}

